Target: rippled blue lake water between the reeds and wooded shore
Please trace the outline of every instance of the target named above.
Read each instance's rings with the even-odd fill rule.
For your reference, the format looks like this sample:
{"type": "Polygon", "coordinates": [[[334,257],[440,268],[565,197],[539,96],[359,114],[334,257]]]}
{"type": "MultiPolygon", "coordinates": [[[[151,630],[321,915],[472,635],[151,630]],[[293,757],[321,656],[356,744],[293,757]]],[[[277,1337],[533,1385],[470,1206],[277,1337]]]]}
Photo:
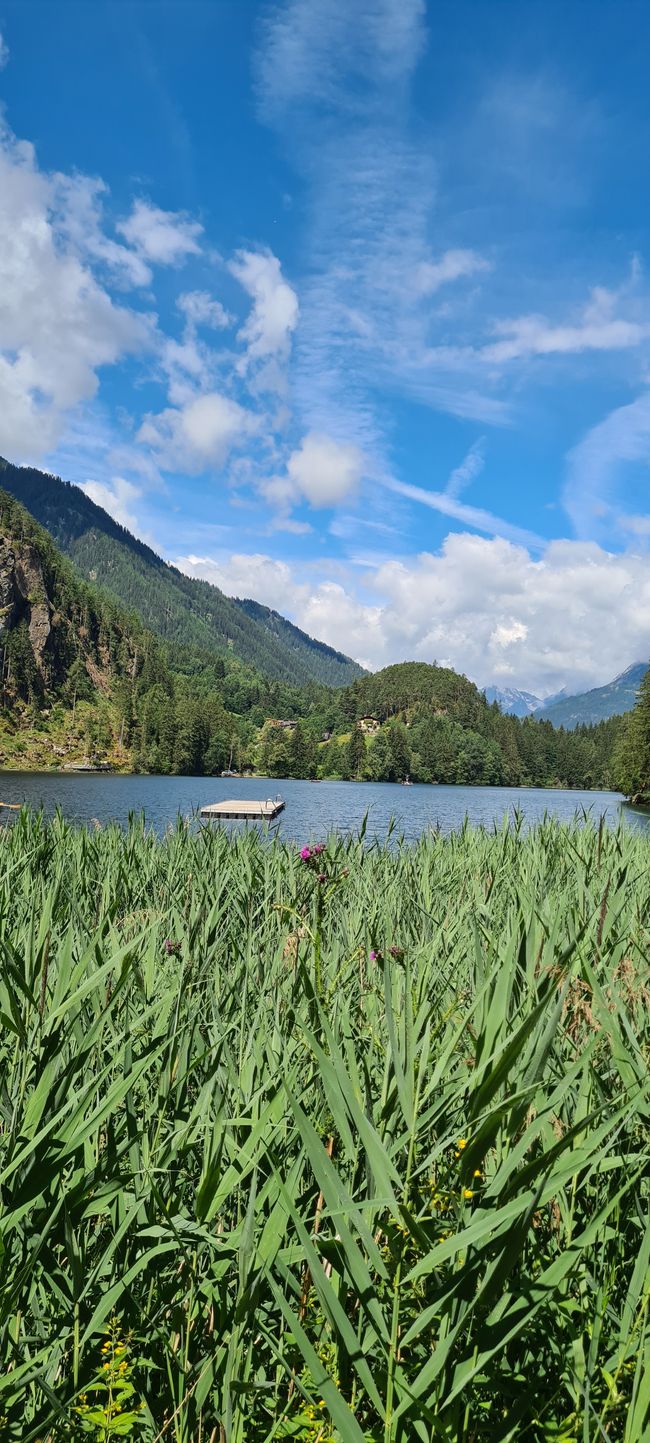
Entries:
{"type": "MultiPolygon", "coordinates": [[[[610,825],[621,818],[647,830],[650,817],[627,807],[617,792],[560,792],[514,786],[399,786],[390,782],[295,782],[264,778],[228,781],[207,776],[100,776],[74,772],[0,772],[0,801],[43,807],[51,814],[61,807],[71,821],[117,821],[124,825],[130,812],[144,812],[156,831],[165,831],[181,814],[192,817],[199,807],[228,798],[285,798],[286,811],[273,828],[292,840],[315,840],[328,831],[357,831],[365,812],[368,833],[386,837],[391,818],[397,831],[413,840],[430,827],[443,833],[461,827],[468,817],[474,825],[491,827],[519,808],[526,825],[534,825],[545,812],[571,821],[588,812],[594,821],[605,817],[610,825]]],[[[10,820],[1,812],[0,820],[10,820]]],[[[212,825],[212,824],[211,824],[212,825]]],[[[225,825],[238,825],[227,823],[225,825]]]]}

